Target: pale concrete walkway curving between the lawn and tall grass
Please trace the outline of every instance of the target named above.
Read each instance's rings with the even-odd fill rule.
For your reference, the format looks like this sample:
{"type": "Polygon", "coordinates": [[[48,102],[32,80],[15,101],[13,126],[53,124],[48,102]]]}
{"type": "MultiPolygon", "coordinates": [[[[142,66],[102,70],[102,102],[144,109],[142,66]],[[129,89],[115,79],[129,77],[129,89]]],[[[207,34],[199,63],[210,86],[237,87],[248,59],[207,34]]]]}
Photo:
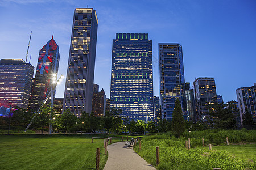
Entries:
{"type": "Polygon", "coordinates": [[[106,162],[104,170],[114,169],[155,169],[148,164],[146,160],[141,158],[133,148],[127,148],[126,142],[117,142],[108,145],[107,150],[109,158],[106,162]]]}

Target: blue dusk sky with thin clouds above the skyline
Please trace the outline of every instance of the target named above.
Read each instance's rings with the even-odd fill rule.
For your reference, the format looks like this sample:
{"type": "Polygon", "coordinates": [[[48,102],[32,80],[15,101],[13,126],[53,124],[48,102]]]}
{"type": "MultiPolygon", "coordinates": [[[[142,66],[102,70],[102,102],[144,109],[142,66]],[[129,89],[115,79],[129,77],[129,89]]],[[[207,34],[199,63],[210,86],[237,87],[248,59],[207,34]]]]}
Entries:
{"type": "MultiPolygon", "coordinates": [[[[224,101],[236,89],[256,83],[256,1],[68,1],[1,0],[0,58],[26,58],[32,31],[31,64],[52,37],[60,48],[59,75],[67,74],[73,11],[92,7],[98,16],[94,83],[110,96],[112,40],[115,33],[148,33],[152,40],[154,95],[159,95],[158,43],[183,46],[185,82],[214,77],[224,101]]],[[[63,97],[65,84],[56,88],[63,97]]]]}

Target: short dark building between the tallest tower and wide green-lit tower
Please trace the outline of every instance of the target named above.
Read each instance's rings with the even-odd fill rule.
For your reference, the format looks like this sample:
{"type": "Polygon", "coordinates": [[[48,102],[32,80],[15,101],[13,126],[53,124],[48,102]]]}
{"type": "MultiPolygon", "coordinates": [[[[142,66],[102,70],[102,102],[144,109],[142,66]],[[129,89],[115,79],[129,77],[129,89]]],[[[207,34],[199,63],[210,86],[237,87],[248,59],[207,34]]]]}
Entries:
{"type": "Polygon", "coordinates": [[[105,91],[96,91],[93,92],[93,101],[92,101],[92,112],[94,116],[105,116],[106,111],[106,95],[105,91]]]}

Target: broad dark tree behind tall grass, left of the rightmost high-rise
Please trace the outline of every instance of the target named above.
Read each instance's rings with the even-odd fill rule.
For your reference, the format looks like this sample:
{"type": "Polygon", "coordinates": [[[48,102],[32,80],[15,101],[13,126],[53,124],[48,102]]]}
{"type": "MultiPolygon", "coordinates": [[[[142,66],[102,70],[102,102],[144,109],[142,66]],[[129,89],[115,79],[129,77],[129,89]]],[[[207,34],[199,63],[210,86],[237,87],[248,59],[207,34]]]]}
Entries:
{"type": "Polygon", "coordinates": [[[229,101],[228,104],[218,103],[209,104],[209,115],[213,119],[213,128],[234,129],[236,128],[236,117],[238,109],[235,101],[229,101]]]}

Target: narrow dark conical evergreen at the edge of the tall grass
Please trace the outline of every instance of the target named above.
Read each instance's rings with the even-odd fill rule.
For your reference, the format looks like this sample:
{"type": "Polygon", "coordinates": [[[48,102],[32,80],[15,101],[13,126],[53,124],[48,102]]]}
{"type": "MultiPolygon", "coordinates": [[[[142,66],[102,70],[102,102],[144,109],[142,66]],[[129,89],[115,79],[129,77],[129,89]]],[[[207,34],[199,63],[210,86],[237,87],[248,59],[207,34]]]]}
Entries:
{"type": "Polygon", "coordinates": [[[179,99],[177,99],[174,104],[174,112],[172,113],[172,130],[177,136],[180,136],[185,131],[185,121],[179,99]]]}

